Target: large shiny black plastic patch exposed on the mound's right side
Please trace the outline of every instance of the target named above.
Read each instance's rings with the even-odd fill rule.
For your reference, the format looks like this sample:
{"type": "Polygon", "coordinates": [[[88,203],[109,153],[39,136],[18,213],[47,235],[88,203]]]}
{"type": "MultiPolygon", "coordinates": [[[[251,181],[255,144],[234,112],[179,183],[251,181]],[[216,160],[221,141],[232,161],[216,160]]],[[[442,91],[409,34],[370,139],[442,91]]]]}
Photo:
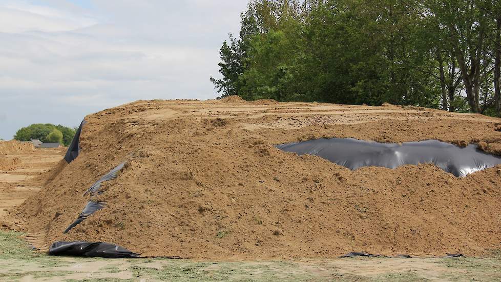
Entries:
{"type": "Polygon", "coordinates": [[[464,177],[501,164],[501,157],[487,154],[476,145],[458,147],[439,140],[395,144],[353,138],[320,138],[276,147],[299,155],[320,156],[351,170],[367,166],[394,169],[431,163],[455,176],[464,177]]]}

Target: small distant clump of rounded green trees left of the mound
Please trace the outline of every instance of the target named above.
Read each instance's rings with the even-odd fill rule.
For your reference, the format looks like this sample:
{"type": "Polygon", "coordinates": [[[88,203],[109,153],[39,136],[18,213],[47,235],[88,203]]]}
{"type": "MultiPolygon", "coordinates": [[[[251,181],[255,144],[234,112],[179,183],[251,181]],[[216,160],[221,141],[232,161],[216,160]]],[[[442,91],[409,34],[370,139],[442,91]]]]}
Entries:
{"type": "Polygon", "coordinates": [[[69,128],[62,125],[53,124],[32,124],[23,127],[16,132],[14,139],[19,141],[29,141],[39,139],[43,143],[60,143],[65,146],[70,145],[75,128],[69,128]]]}

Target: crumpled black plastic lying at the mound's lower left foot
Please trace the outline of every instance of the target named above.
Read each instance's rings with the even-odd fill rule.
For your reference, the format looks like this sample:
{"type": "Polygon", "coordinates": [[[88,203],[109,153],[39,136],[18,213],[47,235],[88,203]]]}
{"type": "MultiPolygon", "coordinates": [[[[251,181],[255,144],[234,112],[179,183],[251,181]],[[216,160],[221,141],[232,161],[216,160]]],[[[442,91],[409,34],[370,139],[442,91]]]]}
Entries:
{"type": "Polygon", "coordinates": [[[102,242],[57,241],[49,247],[50,255],[71,255],[106,258],[137,258],[139,254],[118,245],[102,242]]]}

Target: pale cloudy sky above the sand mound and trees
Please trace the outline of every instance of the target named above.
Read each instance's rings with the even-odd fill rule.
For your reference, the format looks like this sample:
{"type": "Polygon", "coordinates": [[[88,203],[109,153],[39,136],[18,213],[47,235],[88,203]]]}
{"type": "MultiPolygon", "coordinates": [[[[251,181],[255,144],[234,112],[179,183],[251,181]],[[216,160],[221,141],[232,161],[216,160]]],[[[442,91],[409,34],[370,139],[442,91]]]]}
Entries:
{"type": "Polygon", "coordinates": [[[247,0],[0,0],[0,138],[138,99],[213,99],[247,0]]]}

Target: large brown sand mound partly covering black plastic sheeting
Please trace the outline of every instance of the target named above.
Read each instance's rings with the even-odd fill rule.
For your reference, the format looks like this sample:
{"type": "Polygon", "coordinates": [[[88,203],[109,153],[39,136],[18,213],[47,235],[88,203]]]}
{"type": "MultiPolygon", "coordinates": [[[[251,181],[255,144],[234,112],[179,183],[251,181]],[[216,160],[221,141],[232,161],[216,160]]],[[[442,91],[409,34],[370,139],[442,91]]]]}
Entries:
{"type": "Polygon", "coordinates": [[[116,243],[142,255],[334,257],[462,252],[501,242],[501,169],[457,178],[433,165],[350,171],[275,144],[317,137],[440,139],[501,153],[501,120],[424,108],[317,103],[138,101],[86,117],[80,155],[13,216],[55,240],[116,243]],[[62,232],[102,184],[97,211],[62,232]]]}

